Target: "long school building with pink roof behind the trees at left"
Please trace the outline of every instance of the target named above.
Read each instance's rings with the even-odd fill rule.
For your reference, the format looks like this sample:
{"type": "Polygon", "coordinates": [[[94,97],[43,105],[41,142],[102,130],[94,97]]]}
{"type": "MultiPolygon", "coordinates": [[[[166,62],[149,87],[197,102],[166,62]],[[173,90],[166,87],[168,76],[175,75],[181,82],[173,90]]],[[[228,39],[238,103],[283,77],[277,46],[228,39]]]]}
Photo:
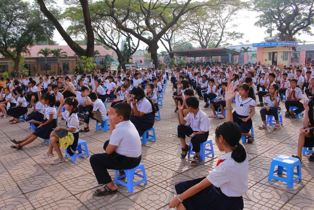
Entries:
{"type": "MultiPolygon", "coordinates": [[[[86,49],[86,45],[81,45],[83,49],[86,49]]],[[[28,69],[29,75],[33,76],[35,74],[55,74],[59,70],[67,71],[68,73],[74,73],[76,65],[80,62],[80,59],[75,54],[75,52],[69,46],[62,45],[35,45],[28,48],[29,54],[24,55],[24,67],[28,69]],[[67,57],[61,57],[57,59],[50,55],[47,57],[47,62],[45,58],[42,58],[41,54],[38,55],[38,52],[41,49],[48,48],[50,50],[60,48],[61,52],[66,52],[67,57]]],[[[99,56],[95,58],[95,62],[99,63],[100,60],[104,60],[106,55],[112,56],[103,46],[95,45],[94,50],[98,50],[100,53],[99,56]]],[[[5,71],[13,70],[13,65],[9,59],[5,59],[0,55],[0,75],[5,71]]]]}

